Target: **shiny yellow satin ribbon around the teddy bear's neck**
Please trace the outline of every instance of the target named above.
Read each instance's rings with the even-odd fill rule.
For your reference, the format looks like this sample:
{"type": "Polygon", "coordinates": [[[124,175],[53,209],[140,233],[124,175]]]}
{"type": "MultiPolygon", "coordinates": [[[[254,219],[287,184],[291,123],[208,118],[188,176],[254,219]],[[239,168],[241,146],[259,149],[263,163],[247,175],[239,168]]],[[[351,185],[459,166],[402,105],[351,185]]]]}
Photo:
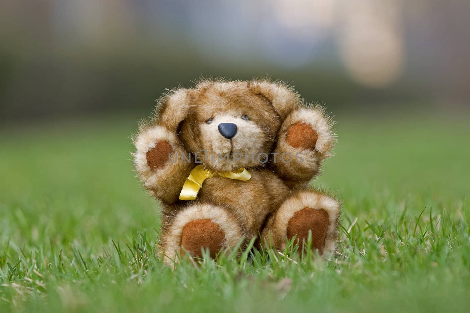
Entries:
{"type": "Polygon", "coordinates": [[[210,169],[204,169],[202,165],[198,165],[189,174],[180,193],[180,200],[196,200],[199,189],[203,186],[206,178],[220,176],[237,180],[249,180],[251,174],[245,168],[239,168],[235,172],[218,172],[210,169]]]}

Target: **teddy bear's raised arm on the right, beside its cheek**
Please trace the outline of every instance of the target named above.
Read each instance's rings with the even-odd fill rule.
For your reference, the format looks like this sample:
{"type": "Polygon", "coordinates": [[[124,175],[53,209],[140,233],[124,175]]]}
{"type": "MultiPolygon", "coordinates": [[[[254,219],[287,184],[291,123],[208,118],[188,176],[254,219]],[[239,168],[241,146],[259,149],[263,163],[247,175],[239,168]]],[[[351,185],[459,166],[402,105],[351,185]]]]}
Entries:
{"type": "Polygon", "coordinates": [[[290,185],[316,176],[334,143],[332,123],[320,106],[298,107],[282,122],[271,166],[290,185]]]}

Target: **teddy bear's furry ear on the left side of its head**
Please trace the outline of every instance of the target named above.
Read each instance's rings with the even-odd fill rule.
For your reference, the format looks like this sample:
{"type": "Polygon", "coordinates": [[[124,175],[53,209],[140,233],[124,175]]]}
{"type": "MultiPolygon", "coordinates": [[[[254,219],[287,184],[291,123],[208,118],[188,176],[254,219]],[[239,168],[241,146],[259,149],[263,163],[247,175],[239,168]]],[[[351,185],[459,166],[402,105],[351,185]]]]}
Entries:
{"type": "Polygon", "coordinates": [[[157,100],[151,122],[154,125],[177,131],[180,122],[189,115],[190,103],[191,97],[188,89],[172,90],[157,100]]]}

